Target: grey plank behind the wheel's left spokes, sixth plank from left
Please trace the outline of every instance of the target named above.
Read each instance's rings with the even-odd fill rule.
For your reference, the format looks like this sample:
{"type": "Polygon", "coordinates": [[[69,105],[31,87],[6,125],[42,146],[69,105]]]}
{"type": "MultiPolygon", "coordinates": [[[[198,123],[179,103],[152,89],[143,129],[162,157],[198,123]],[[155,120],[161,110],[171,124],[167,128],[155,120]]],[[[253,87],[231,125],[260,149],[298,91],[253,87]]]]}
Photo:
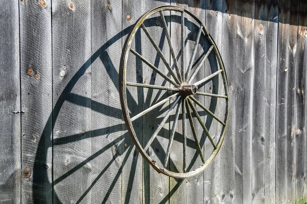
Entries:
{"type": "MultiPolygon", "coordinates": [[[[162,5],[169,5],[169,0],[162,0],[162,1],[151,1],[151,0],[143,0],[143,13],[148,12],[149,10],[156,8],[162,5]]],[[[169,17],[166,12],[164,13],[166,16],[166,21],[169,28],[169,17]]],[[[146,25],[147,30],[151,34],[153,40],[159,45],[160,49],[162,50],[164,56],[167,60],[169,60],[169,48],[167,44],[167,40],[165,37],[165,33],[163,32],[163,25],[160,19],[160,14],[156,13],[152,15],[150,20],[147,21],[146,25]]],[[[170,30],[170,29],[169,29],[170,30]]],[[[151,45],[151,42],[148,40],[147,36],[143,34],[143,57],[147,59],[149,62],[154,64],[155,66],[159,67],[164,73],[167,73],[167,69],[163,65],[162,60],[157,55],[156,50],[151,45]]],[[[149,67],[143,66],[143,81],[147,84],[154,84],[154,85],[163,85],[164,79],[159,76],[159,74],[152,72],[149,67]]],[[[165,84],[168,86],[168,83],[165,84]]],[[[143,89],[144,94],[144,106],[143,108],[146,109],[151,106],[152,102],[158,100],[163,94],[164,91],[158,90],[145,90],[143,89]],[[158,97],[157,97],[158,94],[158,97]],[[159,97],[160,96],[160,97],[159,97]]],[[[164,106],[168,107],[168,104],[164,106]]],[[[152,120],[152,117],[163,117],[160,116],[159,110],[152,111],[150,114],[146,114],[143,118],[143,146],[146,145],[149,138],[157,129],[161,120],[152,120]],[[150,126],[149,126],[150,125],[150,126]]],[[[166,122],[164,128],[160,131],[157,139],[152,142],[151,147],[149,147],[149,155],[155,157],[157,160],[163,161],[165,159],[167,142],[168,141],[168,127],[169,121],[166,122]],[[162,137],[165,137],[162,138],[162,137]]],[[[159,162],[159,161],[157,161],[159,162]]],[[[159,174],[156,170],[154,170],[145,160],[143,160],[143,203],[165,203],[168,202],[169,198],[169,177],[163,174],[159,174]]]]}

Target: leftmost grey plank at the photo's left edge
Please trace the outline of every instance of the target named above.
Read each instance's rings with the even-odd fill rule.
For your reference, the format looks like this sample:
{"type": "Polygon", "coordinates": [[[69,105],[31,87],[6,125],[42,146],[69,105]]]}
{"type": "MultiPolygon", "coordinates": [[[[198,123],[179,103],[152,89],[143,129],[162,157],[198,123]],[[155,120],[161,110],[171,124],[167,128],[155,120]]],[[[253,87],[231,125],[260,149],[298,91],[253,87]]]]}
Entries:
{"type": "Polygon", "coordinates": [[[18,1],[0,7],[0,202],[20,202],[18,1]]]}

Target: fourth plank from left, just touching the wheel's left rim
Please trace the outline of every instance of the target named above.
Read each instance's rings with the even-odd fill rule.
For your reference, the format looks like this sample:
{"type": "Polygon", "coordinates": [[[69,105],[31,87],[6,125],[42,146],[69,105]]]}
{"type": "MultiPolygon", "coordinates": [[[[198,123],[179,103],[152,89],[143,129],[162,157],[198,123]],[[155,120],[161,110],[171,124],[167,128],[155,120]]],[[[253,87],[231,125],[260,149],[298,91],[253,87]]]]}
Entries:
{"type": "MultiPolygon", "coordinates": [[[[122,202],[122,112],[118,71],[122,46],[122,3],[91,1],[92,18],[92,200],[122,202]],[[97,156],[97,157],[96,157],[97,156]]],[[[125,135],[129,140],[129,135],[125,135]]],[[[125,140],[126,140],[125,139],[125,140]]],[[[126,154],[130,155],[130,150],[126,154]]]]}

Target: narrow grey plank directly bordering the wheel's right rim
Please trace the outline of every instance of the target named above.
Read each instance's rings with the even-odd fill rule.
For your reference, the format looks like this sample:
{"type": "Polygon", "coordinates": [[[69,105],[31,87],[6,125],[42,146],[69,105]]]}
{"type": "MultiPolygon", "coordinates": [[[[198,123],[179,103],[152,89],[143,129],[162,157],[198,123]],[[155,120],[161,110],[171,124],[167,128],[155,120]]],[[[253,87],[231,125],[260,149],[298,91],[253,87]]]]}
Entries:
{"type": "Polygon", "coordinates": [[[235,136],[237,133],[237,95],[239,82],[237,81],[236,53],[237,53],[237,1],[226,5],[223,2],[222,24],[222,59],[227,73],[229,88],[229,122],[223,145],[221,147],[221,202],[234,203],[235,201],[235,136]],[[223,182],[222,182],[223,181],[223,182]]]}

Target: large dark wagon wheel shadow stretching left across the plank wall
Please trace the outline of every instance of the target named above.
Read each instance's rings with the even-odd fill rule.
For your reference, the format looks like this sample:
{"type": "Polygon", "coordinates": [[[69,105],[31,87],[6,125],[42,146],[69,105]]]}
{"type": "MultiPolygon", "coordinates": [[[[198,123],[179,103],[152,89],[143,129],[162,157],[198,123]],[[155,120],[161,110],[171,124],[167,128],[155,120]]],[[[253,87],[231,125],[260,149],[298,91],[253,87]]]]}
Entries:
{"type": "MultiPolygon", "coordinates": [[[[157,17],[153,17],[150,19],[150,22],[156,22],[157,17]]],[[[146,24],[147,26],[155,26],[156,24],[146,24]]],[[[195,25],[196,26],[196,25],[195,25]]],[[[56,180],[54,180],[53,182],[49,181],[48,178],[48,171],[52,170],[53,171],[53,167],[51,169],[48,169],[46,167],[46,158],[47,158],[47,152],[48,152],[48,148],[52,148],[53,146],[47,145],[50,144],[50,142],[47,142],[48,140],[52,140],[52,134],[53,134],[53,128],[55,126],[55,122],[57,120],[57,116],[59,114],[59,111],[64,103],[64,101],[68,100],[71,103],[74,103],[76,105],[79,106],[83,106],[86,107],[87,104],[82,104],[80,101],[86,99],[86,100],[91,100],[90,98],[85,98],[83,96],[71,93],[73,87],[75,86],[75,84],[77,83],[77,81],[82,77],[82,75],[85,73],[85,71],[87,70],[87,68],[89,68],[91,66],[91,64],[97,60],[97,58],[99,58],[102,63],[105,65],[105,67],[107,67],[107,72],[109,74],[109,77],[111,78],[112,82],[114,83],[114,85],[116,86],[116,88],[118,89],[118,72],[116,70],[116,68],[114,67],[111,59],[108,56],[107,53],[107,48],[110,47],[111,45],[113,45],[115,42],[117,42],[118,40],[121,40],[122,37],[124,37],[125,35],[128,34],[128,32],[131,30],[131,27],[133,27],[133,25],[131,25],[130,27],[122,30],[122,32],[116,34],[114,37],[112,37],[110,40],[108,40],[106,43],[104,43],[92,56],[90,59],[88,59],[80,68],[79,70],[75,73],[75,75],[73,76],[73,78],[70,80],[70,82],[67,84],[67,86],[65,86],[65,88],[63,89],[62,93],[59,96],[59,99],[57,100],[56,104],[54,105],[52,114],[50,114],[48,121],[46,123],[46,126],[42,132],[42,135],[40,137],[39,143],[38,143],[38,148],[37,148],[37,152],[36,152],[36,156],[35,156],[35,163],[34,163],[34,168],[33,168],[33,199],[35,203],[47,203],[50,200],[45,200],[45,195],[46,194],[53,194],[53,202],[55,203],[60,203],[60,199],[58,198],[56,192],[53,192],[53,186],[60,183],[61,181],[63,181],[65,178],[67,178],[68,176],[72,175],[74,172],[76,172],[78,169],[80,169],[81,167],[83,167],[85,164],[89,163],[90,161],[92,161],[93,159],[97,158],[99,155],[101,155],[103,152],[105,152],[106,150],[110,149],[111,147],[113,147],[114,145],[118,145],[117,148],[121,148],[121,145],[123,145],[125,142],[125,140],[129,140],[129,135],[128,133],[125,133],[123,135],[121,135],[120,137],[116,138],[115,140],[113,140],[111,143],[105,145],[103,148],[101,148],[100,150],[98,150],[95,154],[93,154],[92,156],[90,156],[89,158],[87,158],[86,160],[84,160],[83,162],[79,163],[78,165],[76,165],[75,167],[73,167],[72,169],[70,169],[68,172],[66,172],[65,174],[61,175],[60,177],[58,177],[56,180]],[[103,56],[103,57],[102,57],[103,56]],[[52,127],[50,127],[50,124],[52,124],[52,127]]],[[[190,40],[192,40],[192,35],[188,35],[187,38],[189,38],[190,40]]],[[[159,59],[160,60],[160,59],[159,59]]],[[[214,81],[212,79],[212,81],[214,81]]],[[[216,83],[216,82],[214,82],[216,83]]],[[[213,89],[213,92],[217,91],[217,89],[213,89]]],[[[127,93],[129,94],[129,93],[127,93]]],[[[132,97],[131,97],[132,98],[132,97]]],[[[132,103],[135,103],[136,106],[138,106],[137,101],[131,101],[132,103]]],[[[109,117],[117,117],[118,115],[121,115],[121,109],[117,109],[117,108],[113,108],[113,107],[109,107],[106,106],[104,104],[100,104],[94,100],[91,100],[91,104],[95,104],[95,106],[91,106],[89,108],[92,109],[92,111],[97,111],[99,113],[102,113],[106,116],[109,117]],[[96,103],[96,104],[95,104],[96,103]],[[95,107],[100,107],[100,108],[95,108],[95,107]],[[103,107],[107,107],[108,111],[104,111],[106,110],[103,107]],[[111,111],[110,111],[111,110],[111,111]],[[116,114],[113,114],[116,113],[116,114]],[[119,113],[119,114],[118,114],[119,113]]],[[[215,98],[211,98],[211,103],[210,103],[210,107],[209,110],[211,112],[214,113],[216,108],[216,99],[215,98]]],[[[204,113],[201,113],[202,115],[204,115],[204,113]]],[[[181,116],[182,117],[182,116],[181,116]]],[[[121,119],[121,117],[119,118],[121,119]]],[[[206,121],[206,126],[210,127],[212,123],[212,118],[208,117],[207,121],[206,121]]],[[[112,125],[112,126],[108,126],[108,127],[103,127],[102,129],[97,129],[97,130],[92,130],[89,132],[85,132],[84,135],[91,135],[92,137],[97,137],[97,136],[101,136],[101,135],[107,135],[107,134],[111,134],[114,132],[118,132],[122,130],[122,124],[116,124],[116,125],[112,125]]],[[[61,145],[61,144],[67,144],[70,142],[75,142],[75,141],[79,141],[79,140],[83,140],[86,139],[87,137],[80,137],[80,134],[76,134],[76,135],[70,135],[67,137],[63,137],[63,138],[56,138],[52,141],[53,145],[61,145]]],[[[179,138],[179,137],[175,137],[175,138],[179,138]]],[[[202,137],[202,140],[200,141],[201,146],[203,146],[204,144],[204,140],[205,138],[202,137]]],[[[180,141],[180,139],[179,139],[180,141]]],[[[183,141],[180,141],[183,142],[183,141]]],[[[159,142],[156,142],[157,145],[159,145],[159,142]]],[[[192,143],[192,141],[187,141],[187,144],[190,145],[191,147],[194,147],[192,143]]],[[[123,159],[123,162],[120,166],[120,169],[118,170],[117,174],[114,177],[114,180],[112,182],[112,185],[109,186],[109,189],[105,195],[105,197],[101,200],[102,203],[106,202],[108,199],[108,196],[111,194],[116,182],[118,181],[120,175],[121,175],[121,169],[123,168],[123,166],[125,165],[125,161],[127,161],[129,155],[131,154],[131,152],[133,152],[133,147],[134,145],[130,145],[128,147],[126,147],[125,151],[126,151],[126,155],[125,158],[123,159]]],[[[137,151],[137,150],[135,150],[137,151]]],[[[100,179],[100,177],[102,176],[102,174],[108,169],[108,167],[115,161],[116,157],[123,155],[125,152],[121,152],[121,154],[114,156],[114,158],[109,161],[109,163],[102,167],[101,169],[101,173],[98,174],[98,176],[93,180],[92,184],[87,188],[87,190],[80,196],[80,198],[78,198],[77,203],[79,203],[88,192],[91,191],[92,187],[96,184],[96,182],[100,179]]],[[[139,156],[138,152],[133,152],[133,154],[137,154],[137,157],[139,156]]],[[[196,160],[196,158],[198,157],[197,152],[195,152],[195,155],[192,159],[192,161],[196,160]]],[[[137,162],[137,160],[135,160],[137,162]]],[[[170,161],[172,162],[172,161],[170,161]]],[[[136,164],[133,165],[131,168],[135,168],[136,164]]],[[[189,165],[189,167],[187,168],[187,170],[192,168],[192,162],[189,165]]],[[[133,169],[130,170],[130,174],[129,174],[129,178],[128,178],[128,186],[132,185],[133,181],[134,181],[134,177],[138,176],[135,175],[135,171],[133,169]]],[[[53,178],[52,178],[53,179],[53,178]]],[[[169,197],[176,192],[176,190],[179,188],[179,186],[183,183],[183,180],[181,179],[177,179],[177,185],[175,185],[172,189],[169,189],[169,193],[168,195],[162,200],[162,203],[166,203],[169,199],[169,197]]],[[[144,181],[144,183],[148,183],[148,181],[144,181]]],[[[130,194],[129,191],[127,190],[127,194],[125,196],[125,203],[128,203],[130,200],[130,194]]],[[[145,195],[146,197],[146,195],[145,195]]]]}

